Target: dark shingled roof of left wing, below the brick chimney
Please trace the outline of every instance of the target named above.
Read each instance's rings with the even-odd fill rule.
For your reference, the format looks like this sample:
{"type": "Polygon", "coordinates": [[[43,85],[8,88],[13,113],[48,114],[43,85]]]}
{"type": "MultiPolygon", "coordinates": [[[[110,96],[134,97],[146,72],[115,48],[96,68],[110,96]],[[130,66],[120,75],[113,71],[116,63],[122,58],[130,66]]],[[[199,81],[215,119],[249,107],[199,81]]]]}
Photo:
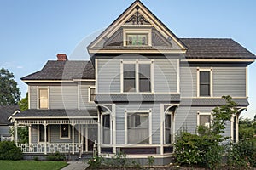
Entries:
{"type": "Polygon", "coordinates": [[[41,71],[22,77],[21,80],[73,80],[95,79],[95,71],[90,61],[51,61],[41,71]]]}

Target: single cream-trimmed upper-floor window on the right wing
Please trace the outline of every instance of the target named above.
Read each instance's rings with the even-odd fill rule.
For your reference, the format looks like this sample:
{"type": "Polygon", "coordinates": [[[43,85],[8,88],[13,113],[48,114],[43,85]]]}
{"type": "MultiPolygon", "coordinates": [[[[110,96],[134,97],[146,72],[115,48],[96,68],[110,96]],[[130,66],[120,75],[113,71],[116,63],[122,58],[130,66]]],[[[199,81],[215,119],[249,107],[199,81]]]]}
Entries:
{"type": "Polygon", "coordinates": [[[198,69],[198,97],[212,97],[212,69],[198,69]]]}

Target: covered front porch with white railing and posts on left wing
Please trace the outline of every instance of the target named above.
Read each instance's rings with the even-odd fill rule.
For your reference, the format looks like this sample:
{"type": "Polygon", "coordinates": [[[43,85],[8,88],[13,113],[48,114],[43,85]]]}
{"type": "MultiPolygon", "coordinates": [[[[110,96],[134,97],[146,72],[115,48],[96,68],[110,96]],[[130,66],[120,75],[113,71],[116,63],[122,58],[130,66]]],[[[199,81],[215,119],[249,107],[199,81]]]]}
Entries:
{"type": "Polygon", "coordinates": [[[96,149],[98,119],[94,116],[16,116],[14,140],[23,153],[48,155],[60,152],[76,154],[93,152],[96,149]],[[28,142],[20,143],[19,127],[27,127],[28,142]]]}

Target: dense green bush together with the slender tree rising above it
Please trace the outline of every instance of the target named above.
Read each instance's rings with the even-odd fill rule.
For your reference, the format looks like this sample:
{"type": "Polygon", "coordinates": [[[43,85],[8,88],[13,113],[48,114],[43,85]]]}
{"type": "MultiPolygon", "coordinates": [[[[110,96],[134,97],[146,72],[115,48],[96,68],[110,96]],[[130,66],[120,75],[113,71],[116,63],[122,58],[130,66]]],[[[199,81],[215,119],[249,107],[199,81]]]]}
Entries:
{"type": "Polygon", "coordinates": [[[223,96],[225,105],[212,110],[210,128],[199,126],[197,134],[183,132],[177,136],[175,156],[177,163],[189,166],[201,165],[210,169],[218,169],[224,154],[223,133],[227,121],[237,114],[236,102],[230,96],[223,96]]]}

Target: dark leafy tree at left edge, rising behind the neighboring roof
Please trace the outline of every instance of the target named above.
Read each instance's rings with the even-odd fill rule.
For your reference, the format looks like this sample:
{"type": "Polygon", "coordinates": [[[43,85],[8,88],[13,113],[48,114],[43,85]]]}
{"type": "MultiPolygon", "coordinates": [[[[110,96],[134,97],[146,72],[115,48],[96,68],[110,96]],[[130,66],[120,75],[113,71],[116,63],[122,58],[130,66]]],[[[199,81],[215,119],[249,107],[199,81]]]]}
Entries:
{"type": "Polygon", "coordinates": [[[7,69],[0,70],[0,105],[17,105],[20,100],[20,89],[15,76],[7,69]]]}

